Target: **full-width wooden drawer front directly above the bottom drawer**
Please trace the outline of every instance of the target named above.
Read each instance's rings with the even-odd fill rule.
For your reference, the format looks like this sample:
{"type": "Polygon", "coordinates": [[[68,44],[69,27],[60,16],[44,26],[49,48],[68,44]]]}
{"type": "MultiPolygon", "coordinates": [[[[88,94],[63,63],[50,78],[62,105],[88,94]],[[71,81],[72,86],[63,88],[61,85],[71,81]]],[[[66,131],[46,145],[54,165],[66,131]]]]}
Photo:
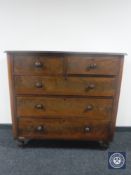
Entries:
{"type": "Polygon", "coordinates": [[[87,117],[110,120],[111,99],[17,97],[17,116],[20,117],[87,117]]]}

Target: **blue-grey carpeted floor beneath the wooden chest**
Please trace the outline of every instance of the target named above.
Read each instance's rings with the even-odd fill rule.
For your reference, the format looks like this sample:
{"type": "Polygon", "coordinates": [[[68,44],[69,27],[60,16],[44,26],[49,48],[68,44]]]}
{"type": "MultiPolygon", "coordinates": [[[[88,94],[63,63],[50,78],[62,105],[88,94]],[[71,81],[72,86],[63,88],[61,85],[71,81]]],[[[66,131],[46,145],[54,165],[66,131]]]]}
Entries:
{"type": "Polygon", "coordinates": [[[31,141],[24,149],[10,128],[0,129],[0,175],[130,175],[131,132],[116,132],[106,151],[87,142],[31,141]],[[126,169],[108,169],[108,152],[124,151],[126,169]]]}

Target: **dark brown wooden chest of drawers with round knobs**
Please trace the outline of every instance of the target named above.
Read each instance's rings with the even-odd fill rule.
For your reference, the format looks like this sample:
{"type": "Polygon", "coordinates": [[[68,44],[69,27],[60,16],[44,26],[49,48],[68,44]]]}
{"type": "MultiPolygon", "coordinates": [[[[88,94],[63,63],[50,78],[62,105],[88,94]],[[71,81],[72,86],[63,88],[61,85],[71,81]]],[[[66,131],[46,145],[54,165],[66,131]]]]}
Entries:
{"type": "Polygon", "coordinates": [[[7,51],[14,138],[113,139],[124,54],[7,51]]]}

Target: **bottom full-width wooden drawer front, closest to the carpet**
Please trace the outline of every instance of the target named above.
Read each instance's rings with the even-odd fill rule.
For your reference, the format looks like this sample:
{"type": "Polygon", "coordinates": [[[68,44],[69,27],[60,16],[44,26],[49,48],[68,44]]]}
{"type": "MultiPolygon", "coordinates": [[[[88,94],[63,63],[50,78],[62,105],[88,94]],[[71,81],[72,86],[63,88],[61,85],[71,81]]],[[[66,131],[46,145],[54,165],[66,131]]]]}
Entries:
{"type": "Polygon", "coordinates": [[[19,136],[46,139],[107,139],[110,134],[108,122],[87,119],[25,119],[18,122],[19,136]]]}

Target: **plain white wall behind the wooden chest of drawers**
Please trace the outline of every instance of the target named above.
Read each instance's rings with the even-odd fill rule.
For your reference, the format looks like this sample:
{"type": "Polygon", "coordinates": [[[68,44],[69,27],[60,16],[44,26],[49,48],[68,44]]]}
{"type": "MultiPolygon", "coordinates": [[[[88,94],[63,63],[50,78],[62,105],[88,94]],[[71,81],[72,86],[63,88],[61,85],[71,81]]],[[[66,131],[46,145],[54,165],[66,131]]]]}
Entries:
{"type": "Polygon", "coordinates": [[[117,126],[131,126],[130,0],[0,0],[0,123],[11,123],[4,50],[127,52],[117,126]]]}

